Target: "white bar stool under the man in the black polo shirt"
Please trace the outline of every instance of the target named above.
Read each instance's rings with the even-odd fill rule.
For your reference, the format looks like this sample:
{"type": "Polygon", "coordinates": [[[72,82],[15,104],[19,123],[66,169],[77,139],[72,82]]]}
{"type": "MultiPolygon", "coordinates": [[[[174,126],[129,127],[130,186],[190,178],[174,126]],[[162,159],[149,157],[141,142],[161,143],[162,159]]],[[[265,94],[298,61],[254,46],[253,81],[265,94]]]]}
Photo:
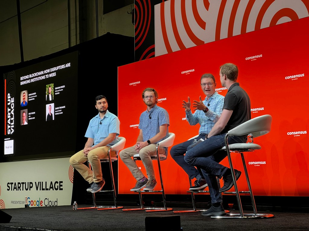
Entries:
{"type": "Polygon", "coordinates": [[[227,139],[228,139],[229,136],[243,136],[243,135],[247,135],[247,134],[252,134],[253,138],[256,138],[258,136],[263,136],[263,135],[269,133],[270,128],[271,128],[272,119],[273,118],[272,118],[271,115],[261,115],[261,116],[254,118],[254,119],[248,120],[247,122],[245,122],[243,124],[240,124],[236,128],[231,129],[226,134],[226,136],[224,138],[225,139],[225,147],[223,147],[222,150],[226,150],[226,152],[227,152],[227,157],[228,157],[230,168],[231,168],[231,171],[232,171],[232,178],[233,178],[233,182],[234,182],[235,192],[224,192],[224,193],[225,194],[236,194],[237,203],[238,203],[240,213],[228,213],[228,214],[226,214],[226,216],[216,216],[216,217],[212,216],[211,218],[241,218],[241,219],[249,218],[249,219],[252,219],[252,218],[273,218],[274,217],[273,214],[257,213],[256,205],[255,205],[255,201],[254,201],[254,197],[253,197],[253,193],[252,193],[252,188],[251,188],[251,184],[250,184],[250,180],[249,180],[249,176],[248,176],[248,171],[247,171],[247,167],[246,167],[246,162],[245,162],[245,159],[244,159],[244,156],[243,156],[243,152],[253,152],[255,150],[261,149],[261,146],[258,145],[258,144],[254,144],[254,143],[228,144],[228,142],[227,142],[227,139]],[[240,192],[238,190],[230,152],[239,153],[240,156],[241,156],[249,191],[241,191],[240,192]],[[239,193],[249,193],[250,194],[253,213],[246,213],[246,214],[243,213],[243,208],[242,208],[239,193]]]}

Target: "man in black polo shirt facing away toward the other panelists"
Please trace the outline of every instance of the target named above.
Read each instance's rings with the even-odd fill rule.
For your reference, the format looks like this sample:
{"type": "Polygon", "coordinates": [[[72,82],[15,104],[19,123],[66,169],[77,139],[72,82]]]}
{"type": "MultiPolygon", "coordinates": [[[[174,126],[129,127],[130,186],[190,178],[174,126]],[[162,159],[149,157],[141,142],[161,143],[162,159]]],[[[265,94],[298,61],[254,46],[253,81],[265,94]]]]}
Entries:
{"type": "MultiPolygon", "coordinates": [[[[250,98],[245,90],[237,83],[238,67],[232,63],[226,63],[220,67],[220,81],[222,87],[228,89],[224,97],[223,111],[218,122],[206,136],[205,141],[188,150],[184,160],[193,166],[201,168],[203,176],[208,184],[212,206],[202,213],[202,216],[224,215],[221,193],[229,190],[233,185],[230,168],[219,164],[226,157],[224,137],[232,128],[251,119],[250,98]],[[217,178],[223,177],[224,185],[219,188],[217,178]]],[[[245,143],[247,136],[231,136],[229,144],[245,143]]],[[[236,180],[241,172],[234,169],[236,180]]]]}

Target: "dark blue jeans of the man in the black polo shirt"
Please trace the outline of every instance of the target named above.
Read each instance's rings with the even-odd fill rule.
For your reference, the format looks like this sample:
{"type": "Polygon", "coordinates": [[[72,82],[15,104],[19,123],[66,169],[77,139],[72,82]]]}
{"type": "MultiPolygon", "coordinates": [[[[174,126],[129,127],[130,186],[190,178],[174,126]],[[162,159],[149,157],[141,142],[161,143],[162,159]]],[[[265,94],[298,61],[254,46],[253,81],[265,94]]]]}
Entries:
{"type": "MultiPolygon", "coordinates": [[[[221,193],[219,193],[219,184],[216,177],[221,178],[228,169],[219,164],[226,156],[226,150],[220,150],[224,144],[226,133],[211,136],[194,148],[188,150],[184,160],[198,168],[201,168],[203,176],[208,184],[211,203],[222,202],[221,193]]],[[[232,136],[228,138],[228,144],[244,143],[245,137],[232,136]]]]}

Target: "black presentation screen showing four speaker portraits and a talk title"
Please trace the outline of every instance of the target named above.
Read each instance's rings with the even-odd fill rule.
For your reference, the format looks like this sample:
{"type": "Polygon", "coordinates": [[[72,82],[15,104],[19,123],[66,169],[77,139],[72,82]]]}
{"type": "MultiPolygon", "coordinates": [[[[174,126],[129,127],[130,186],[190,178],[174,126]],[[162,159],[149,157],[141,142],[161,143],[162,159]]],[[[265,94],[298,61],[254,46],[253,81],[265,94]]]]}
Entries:
{"type": "Polygon", "coordinates": [[[5,161],[75,151],[78,53],[4,74],[5,161]]]}

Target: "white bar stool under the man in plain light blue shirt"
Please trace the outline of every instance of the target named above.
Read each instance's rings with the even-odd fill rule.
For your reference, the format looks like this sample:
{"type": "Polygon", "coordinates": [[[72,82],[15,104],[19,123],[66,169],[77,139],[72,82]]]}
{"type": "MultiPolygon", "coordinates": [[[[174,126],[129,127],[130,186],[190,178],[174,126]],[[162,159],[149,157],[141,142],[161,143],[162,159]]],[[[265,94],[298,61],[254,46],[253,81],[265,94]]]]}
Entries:
{"type": "MultiPolygon", "coordinates": [[[[120,150],[122,150],[125,147],[125,138],[119,136],[118,137],[119,142],[117,144],[112,145],[109,149],[108,149],[108,157],[103,158],[100,160],[101,163],[109,163],[109,172],[110,172],[110,176],[111,176],[111,180],[112,180],[112,190],[101,190],[98,193],[113,193],[113,197],[114,197],[114,206],[96,206],[96,202],[95,202],[95,193],[91,193],[92,194],[92,200],[93,200],[93,207],[87,207],[87,208],[78,208],[78,209],[98,209],[98,210],[107,210],[107,209],[122,209],[123,206],[117,206],[117,202],[116,202],[116,190],[115,190],[115,181],[114,181],[114,174],[113,174],[113,169],[112,169],[112,162],[118,160],[118,152],[120,150]],[[111,157],[110,152],[111,151],[116,151],[116,157],[111,157]]],[[[91,165],[88,161],[88,167],[91,169],[91,165]]]]}

